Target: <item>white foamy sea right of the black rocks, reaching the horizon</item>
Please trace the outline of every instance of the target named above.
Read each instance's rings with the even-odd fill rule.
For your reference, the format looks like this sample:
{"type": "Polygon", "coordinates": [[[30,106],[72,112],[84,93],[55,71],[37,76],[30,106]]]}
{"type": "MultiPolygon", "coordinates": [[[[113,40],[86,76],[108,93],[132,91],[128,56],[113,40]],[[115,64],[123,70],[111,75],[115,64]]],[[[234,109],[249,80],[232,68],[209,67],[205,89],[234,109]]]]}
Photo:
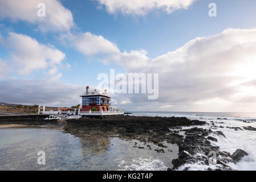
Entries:
{"type": "MultiPolygon", "coordinates": [[[[237,149],[245,150],[249,154],[237,164],[229,163],[228,165],[237,170],[256,170],[256,131],[243,129],[243,126],[251,126],[256,128],[256,113],[132,112],[131,115],[187,117],[189,119],[206,121],[210,124],[212,123],[211,121],[213,121],[214,125],[217,126],[215,131],[222,131],[222,133],[224,133],[226,136],[225,138],[212,134],[212,137],[217,138],[218,140],[218,142],[211,141],[214,146],[219,146],[221,151],[230,152],[230,154],[233,154],[233,152],[235,152],[237,149]],[[250,123],[245,123],[243,121],[250,123]],[[220,128],[220,126],[223,126],[223,128],[220,128]],[[236,131],[227,127],[240,127],[242,130],[236,131]]],[[[191,127],[182,127],[182,129],[189,129],[191,127]]],[[[197,127],[210,129],[211,125],[197,127]]],[[[182,134],[182,132],[180,134],[182,134]]],[[[182,170],[185,167],[190,167],[190,170],[206,170],[209,166],[197,163],[193,165],[185,164],[179,169],[182,170]]],[[[214,166],[212,168],[214,168],[214,166]]]]}

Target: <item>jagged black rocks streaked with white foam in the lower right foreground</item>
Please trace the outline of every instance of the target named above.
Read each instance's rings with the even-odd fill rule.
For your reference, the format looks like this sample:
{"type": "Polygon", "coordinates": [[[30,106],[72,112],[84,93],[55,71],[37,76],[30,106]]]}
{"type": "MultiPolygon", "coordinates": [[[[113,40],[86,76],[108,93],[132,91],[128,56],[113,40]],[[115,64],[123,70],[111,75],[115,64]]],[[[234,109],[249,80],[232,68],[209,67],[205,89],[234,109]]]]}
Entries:
{"type": "Polygon", "coordinates": [[[233,170],[226,164],[228,162],[233,162],[229,152],[220,151],[220,147],[212,146],[210,142],[210,140],[217,141],[216,138],[208,136],[209,134],[216,134],[215,132],[213,132],[211,129],[206,130],[198,127],[193,127],[192,129],[182,131],[185,131],[187,135],[184,141],[178,145],[178,158],[172,160],[173,168],[169,168],[169,170],[178,169],[184,164],[201,163],[204,165],[209,165],[209,158],[211,157],[209,156],[210,151],[216,152],[216,161],[222,166],[218,167],[218,170],[233,170]]]}

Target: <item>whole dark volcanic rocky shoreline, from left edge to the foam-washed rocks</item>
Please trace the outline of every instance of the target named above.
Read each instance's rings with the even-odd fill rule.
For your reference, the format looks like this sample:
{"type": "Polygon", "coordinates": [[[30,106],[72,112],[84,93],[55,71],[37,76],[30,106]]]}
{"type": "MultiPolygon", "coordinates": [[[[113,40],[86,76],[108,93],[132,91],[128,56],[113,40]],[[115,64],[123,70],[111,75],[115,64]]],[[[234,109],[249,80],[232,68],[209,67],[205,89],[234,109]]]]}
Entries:
{"type": "MultiPolygon", "coordinates": [[[[0,119],[0,125],[58,126],[58,122],[57,119],[46,120],[43,117],[0,119]]],[[[209,124],[205,121],[190,120],[185,117],[134,117],[124,115],[124,117],[118,118],[67,119],[63,129],[64,133],[70,133],[80,138],[119,137],[125,140],[135,139],[144,143],[154,143],[159,146],[156,152],[169,150],[162,142],[177,144],[179,147],[178,158],[172,160],[173,168],[168,168],[168,170],[176,170],[184,164],[188,164],[184,168],[184,170],[188,170],[189,164],[194,163],[209,166],[208,170],[233,170],[227,163],[238,162],[243,156],[248,155],[242,150],[237,150],[232,155],[229,152],[220,151],[220,147],[212,144],[212,142],[217,142],[217,139],[212,136],[226,137],[221,131],[216,131],[217,126],[213,122],[209,124]],[[199,128],[200,125],[210,125],[214,131],[199,128]],[[184,126],[190,128],[182,129],[184,126]],[[215,162],[217,164],[214,168],[210,167],[209,164],[213,153],[216,154],[215,162]]],[[[243,129],[254,130],[253,127],[244,127],[243,129]]],[[[135,144],[133,147],[138,146],[135,144]]],[[[148,145],[147,147],[151,149],[151,146],[148,145]]],[[[139,148],[144,149],[144,147],[139,148]]]]}

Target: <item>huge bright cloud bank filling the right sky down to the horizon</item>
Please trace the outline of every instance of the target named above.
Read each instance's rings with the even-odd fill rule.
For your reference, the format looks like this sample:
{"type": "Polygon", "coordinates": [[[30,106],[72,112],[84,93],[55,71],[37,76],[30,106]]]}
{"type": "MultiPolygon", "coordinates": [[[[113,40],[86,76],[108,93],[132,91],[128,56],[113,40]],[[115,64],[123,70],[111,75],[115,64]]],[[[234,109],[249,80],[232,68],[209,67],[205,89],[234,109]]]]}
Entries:
{"type": "Polygon", "coordinates": [[[125,107],[130,110],[151,105],[153,110],[176,111],[239,111],[249,102],[256,106],[255,49],[256,29],[228,28],[217,35],[195,38],[155,59],[145,53],[143,59],[137,55],[133,67],[123,53],[111,55],[109,60],[119,56],[115,63],[130,72],[159,73],[157,100],[148,101],[145,94],[121,94],[115,96],[116,103],[124,106],[121,103],[128,98],[131,104],[125,107]],[[173,107],[163,107],[166,105],[173,107]]]}

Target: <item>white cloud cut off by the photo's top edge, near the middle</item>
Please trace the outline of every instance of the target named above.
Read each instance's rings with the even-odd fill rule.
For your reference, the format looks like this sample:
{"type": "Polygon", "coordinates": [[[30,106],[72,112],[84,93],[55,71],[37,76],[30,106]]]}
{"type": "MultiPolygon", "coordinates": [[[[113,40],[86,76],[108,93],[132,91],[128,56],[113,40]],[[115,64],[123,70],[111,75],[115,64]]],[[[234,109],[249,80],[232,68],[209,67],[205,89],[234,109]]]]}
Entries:
{"type": "Polygon", "coordinates": [[[188,9],[195,0],[97,0],[100,6],[105,6],[109,14],[145,15],[157,9],[170,14],[178,9],[188,9]]]}

